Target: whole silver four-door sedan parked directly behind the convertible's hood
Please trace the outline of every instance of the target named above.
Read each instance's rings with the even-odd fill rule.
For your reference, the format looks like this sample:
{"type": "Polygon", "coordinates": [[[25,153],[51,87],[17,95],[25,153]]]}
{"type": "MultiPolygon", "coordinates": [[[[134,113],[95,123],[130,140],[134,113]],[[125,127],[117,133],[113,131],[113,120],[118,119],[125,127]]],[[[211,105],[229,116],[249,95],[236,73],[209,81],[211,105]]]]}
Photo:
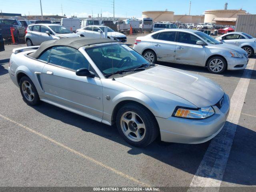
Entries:
{"type": "Polygon", "coordinates": [[[133,48],[153,63],[202,66],[215,74],[244,69],[248,63],[248,55],[242,48],[222,43],[196,30],[161,30],[137,37],[133,48]]]}

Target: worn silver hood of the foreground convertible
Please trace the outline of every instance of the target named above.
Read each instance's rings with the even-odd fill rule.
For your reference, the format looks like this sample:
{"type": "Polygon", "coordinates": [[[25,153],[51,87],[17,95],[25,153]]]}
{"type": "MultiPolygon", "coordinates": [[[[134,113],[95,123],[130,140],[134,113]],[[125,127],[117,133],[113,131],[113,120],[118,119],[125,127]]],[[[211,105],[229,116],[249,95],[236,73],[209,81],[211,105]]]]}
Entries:
{"type": "Polygon", "coordinates": [[[198,108],[215,105],[224,95],[222,88],[208,78],[158,65],[116,78],[116,81],[131,86],[147,96],[152,93],[158,95],[159,90],[164,90],[180,96],[198,108]]]}

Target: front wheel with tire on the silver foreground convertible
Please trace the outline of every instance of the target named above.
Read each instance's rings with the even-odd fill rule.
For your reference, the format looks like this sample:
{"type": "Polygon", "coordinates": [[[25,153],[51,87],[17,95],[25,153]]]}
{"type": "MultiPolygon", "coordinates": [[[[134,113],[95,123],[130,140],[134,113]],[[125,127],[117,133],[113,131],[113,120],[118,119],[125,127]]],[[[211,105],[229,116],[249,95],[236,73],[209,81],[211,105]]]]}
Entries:
{"type": "Polygon", "coordinates": [[[116,126],[122,138],[137,147],[149,145],[158,136],[158,126],[154,116],[138,104],[122,106],[116,115],[116,126]]]}

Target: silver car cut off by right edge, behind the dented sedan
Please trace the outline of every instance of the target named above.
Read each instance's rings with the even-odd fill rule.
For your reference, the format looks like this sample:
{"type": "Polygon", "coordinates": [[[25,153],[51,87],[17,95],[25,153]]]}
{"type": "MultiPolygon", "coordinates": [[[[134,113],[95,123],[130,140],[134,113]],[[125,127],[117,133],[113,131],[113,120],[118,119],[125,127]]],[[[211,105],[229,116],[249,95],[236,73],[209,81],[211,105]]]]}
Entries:
{"type": "Polygon", "coordinates": [[[247,52],[248,57],[251,57],[253,54],[256,54],[256,38],[247,33],[230,32],[216,39],[221,42],[241,47],[247,52]]]}

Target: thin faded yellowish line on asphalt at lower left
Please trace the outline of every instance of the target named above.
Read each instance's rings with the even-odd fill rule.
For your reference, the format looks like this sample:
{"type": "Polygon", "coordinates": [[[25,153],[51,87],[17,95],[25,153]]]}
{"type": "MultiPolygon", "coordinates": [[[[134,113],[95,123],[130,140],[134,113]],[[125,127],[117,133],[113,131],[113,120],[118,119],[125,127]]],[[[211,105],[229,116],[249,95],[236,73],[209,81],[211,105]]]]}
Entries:
{"type": "Polygon", "coordinates": [[[34,133],[34,134],[36,134],[36,135],[38,135],[38,136],[40,136],[40,137],[42,137],[42,138],[44,138],[44,139],[46,139],[46,140],[48,140],[48,141],[50,141],[50,142],[52,142],[52,143],[58,145],[58,146],[61,146],[62,148],[65,148],[66,150],[68,150],[68,151],[70,151],[70,152],[72,152],[72,153],[74,153],[74,154],[76,154],[76,155],[78,155],[78,156],[80,156],[80,157],[82,157],[82,158],[84,158],[84,159],[86,159],[86,160],[89,160],[90,162],[93,162],[93,163],[95,163],[95,164],[97,164],[97,165],[99,165],[99,166],[102,166],[103,168],[106,168],[106,169],[108,169],[108,170],[114,172],[115,174],[118,174],[118,175],[120,175],[120,176],[122,176],[122,177],[124,177],[124,178],[127,178],[127,179],[129,179],[129,180],[131,180],[131,181],[133,181],[133,182],[135,182],[135,183],[138,183],[138,184],[140,184],[140,185],[142,185],[142,186],[150,186],[150,185],[148,185],[148,184],[146,184],[146,183],[144,183],[144,182],[139,181],[139,180],[136,179],[136,178],[133,178],[132,176],[129,176],[129,175],[127,175],[127,174],[125,174],[125,173],[123,173],[123,172],[121,172],[121,171],[116,170],[115,168],[112,168],[112,167],[110,167],[110,166],[107,166],[107,165],[103,164],[102,162],[100,162],[100,161],[98,161],[98,160],[96,160],[96,159],[94,159],[94,158],[91,158],[91,157],[89,157],[89,156],[86,156],[86,155],[84,155],[84,154],[82,154],[82,153],[80,153],[80,152],[78,152],[78,151],[76,151],[76,150],[74,150],[74,149],[72,149],[72,148],[70,148],[70,147],[68,147],[68,146],[65,146],[64,144],[62,144],[62,143],[60,143],[60,142],[58,142],[58,141],[56,141],[56,140],[54,140],[54,139],[52,139],[52,138],[49,138],[49,137],[45,136],[45,135],[42,134],[42,133],[39,133],[39,132],[37,132],[37,131],[35,131],[35,130],[33,130],[33,129],[27,127],[27,126],[24,126],[24,125],[22,125],[22,124],[20,124],[20,123],[17,123],[17,122],[15,122],[14,120],[11,120],[11,119],[8,118],[8,117],[5,117],[5,116],[3,116],[3,115],[1,115],[1,114],[0,114],[0,117],[2,117],[3,119],[8,120],[8,121],[10,121],[10,122],[12,122],[12,123],[14,123],[14,124],[16,124],[16,125],[18,125],[18,126],[24,128],[24,129],[30,131],[30,132],[32,132],[32,133],[34,133]]]}

